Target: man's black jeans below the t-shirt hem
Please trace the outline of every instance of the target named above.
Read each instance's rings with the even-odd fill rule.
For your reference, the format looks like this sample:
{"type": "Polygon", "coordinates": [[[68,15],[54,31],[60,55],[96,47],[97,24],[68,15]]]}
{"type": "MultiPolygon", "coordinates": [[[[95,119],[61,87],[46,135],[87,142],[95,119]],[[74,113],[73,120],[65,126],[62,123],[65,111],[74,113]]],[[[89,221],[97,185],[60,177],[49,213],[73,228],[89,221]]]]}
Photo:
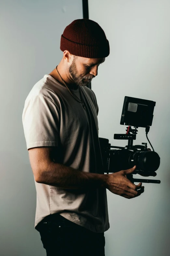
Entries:
{"type": "Polygon", "coordinates": [[[105,256],[104,232],[92,232],[60,214],[55,216],[36,226],[47,256],[105,256]]]}

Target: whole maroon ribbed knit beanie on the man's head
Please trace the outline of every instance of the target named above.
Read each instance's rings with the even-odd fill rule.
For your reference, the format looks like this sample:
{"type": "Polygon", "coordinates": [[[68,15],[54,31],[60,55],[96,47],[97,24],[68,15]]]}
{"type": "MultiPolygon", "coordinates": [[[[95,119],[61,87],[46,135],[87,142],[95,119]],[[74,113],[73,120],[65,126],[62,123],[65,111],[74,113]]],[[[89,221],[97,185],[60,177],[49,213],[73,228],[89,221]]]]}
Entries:
{"type": "Polygon", "coordinates": [[[95,21],[74,20],[61,36],[60,49],[85,58],[105,58],[109,55],[109,42],[105,32],[95,21]]]}

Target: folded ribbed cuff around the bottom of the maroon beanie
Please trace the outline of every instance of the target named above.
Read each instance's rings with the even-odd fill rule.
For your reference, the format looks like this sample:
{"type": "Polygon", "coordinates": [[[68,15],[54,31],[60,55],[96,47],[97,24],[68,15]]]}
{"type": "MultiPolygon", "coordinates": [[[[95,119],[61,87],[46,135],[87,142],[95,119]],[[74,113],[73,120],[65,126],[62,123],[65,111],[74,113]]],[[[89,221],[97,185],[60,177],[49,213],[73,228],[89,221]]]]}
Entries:
{"type": "Polygon", "coordinates": [[[60,49],[64,52],[68,50],[71,54],[84,58],[106,58],[109,53],[109,42],[106,39],[105,44],[98,45],[85,45],[81,43],[75,43],[68,40],[63,35],[61,36],[60,49]]]}

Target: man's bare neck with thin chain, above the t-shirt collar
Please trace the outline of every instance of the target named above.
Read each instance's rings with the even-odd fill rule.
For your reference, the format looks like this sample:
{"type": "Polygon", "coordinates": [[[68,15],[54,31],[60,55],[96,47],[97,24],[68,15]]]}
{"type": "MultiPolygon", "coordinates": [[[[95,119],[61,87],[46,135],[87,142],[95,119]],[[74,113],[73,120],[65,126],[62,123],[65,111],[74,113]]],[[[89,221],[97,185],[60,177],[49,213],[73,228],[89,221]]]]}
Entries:
{"type": "MultiPolygon", "coordinates": [[[[72,83],[72,81],[67,77],[66,73],[63,71],[63,69],[61,68],[60,64],[57,66],[57,70],[60,74],[60,76],[62,77],[62,79],[64,80],[66,86],[71,89],[71,90],[77,90],[78,86],[75,83],[72,83]]],[[[60,84],[64,85],[64,82],[62,81],[62,79],[60,78],[60,76],[57,73],[56,68],[49,74],[51,77],[53,77],[57,82],[59,82],[60,84]]]]}

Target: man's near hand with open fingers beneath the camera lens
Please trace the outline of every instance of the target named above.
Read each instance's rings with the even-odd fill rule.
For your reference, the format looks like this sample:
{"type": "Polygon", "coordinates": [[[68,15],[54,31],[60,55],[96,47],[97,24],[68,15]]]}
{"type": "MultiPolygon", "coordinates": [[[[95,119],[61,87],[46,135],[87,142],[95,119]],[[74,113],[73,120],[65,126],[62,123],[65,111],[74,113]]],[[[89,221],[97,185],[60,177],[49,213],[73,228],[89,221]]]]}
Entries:
{"type": "Polygon", "coordinates": [[[127,170],[108,174],[106,188],[112,193],[128,199],[140,196],[144,192],[144,186],[142,187],[142,183],[135,185],[126,177],[126,174],[132,174],[135,171],[135,168],[136,165],[127,170]]]}

